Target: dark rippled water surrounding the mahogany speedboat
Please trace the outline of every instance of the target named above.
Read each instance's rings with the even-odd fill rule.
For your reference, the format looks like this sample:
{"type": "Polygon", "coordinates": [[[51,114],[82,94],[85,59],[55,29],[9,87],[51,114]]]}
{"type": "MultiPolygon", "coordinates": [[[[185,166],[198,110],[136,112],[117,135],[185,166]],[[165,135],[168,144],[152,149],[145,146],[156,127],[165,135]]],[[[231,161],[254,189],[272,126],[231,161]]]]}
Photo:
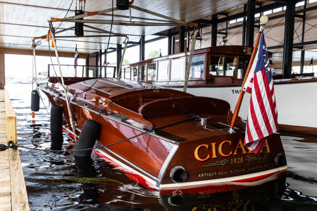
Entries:
{"type": "MultiPolygon", "coordinates": [[[[32,119],[31,85],[7,88],[14,98],[18,144],[49,149],[49,115],[41,103],[32,119]]],[[[48,106],[47,99],[44,103],[48,106]]],[[[223,193],[157,196],[97,157],[82,162],[72,153],[24,149],[20,157],[32,211],[317,211],[317,137],[281,135],[290,173],[286,179],[223,193]]],[[[63,149],[73,148],[68,134],[63,140],[63,149]]]]}

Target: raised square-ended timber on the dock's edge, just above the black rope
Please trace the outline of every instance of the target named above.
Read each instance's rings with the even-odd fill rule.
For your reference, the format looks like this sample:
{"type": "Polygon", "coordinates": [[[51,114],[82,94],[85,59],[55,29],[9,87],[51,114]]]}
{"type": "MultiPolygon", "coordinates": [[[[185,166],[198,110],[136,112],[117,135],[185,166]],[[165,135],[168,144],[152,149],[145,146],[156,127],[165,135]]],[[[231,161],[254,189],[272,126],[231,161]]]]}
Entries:
{"type": "Polygon", "coordinates": [[[6,115],[6,127],[7,127],[7,141],[13,141],[17,143],[17,116],[13,110],[10,97],[7,89],[5,88],[5,115],[6,115]]]}

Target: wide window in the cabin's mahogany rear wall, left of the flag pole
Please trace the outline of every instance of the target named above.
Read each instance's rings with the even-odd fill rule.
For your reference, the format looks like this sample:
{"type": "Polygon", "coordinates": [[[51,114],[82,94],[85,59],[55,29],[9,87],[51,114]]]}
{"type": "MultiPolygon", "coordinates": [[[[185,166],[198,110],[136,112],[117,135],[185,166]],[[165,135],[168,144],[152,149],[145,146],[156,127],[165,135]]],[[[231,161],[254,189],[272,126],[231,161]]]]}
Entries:
{"type": "Polygon", "coordinates": [[[237,57],[210,57],[210,76],[236,76],[237,57]]]}

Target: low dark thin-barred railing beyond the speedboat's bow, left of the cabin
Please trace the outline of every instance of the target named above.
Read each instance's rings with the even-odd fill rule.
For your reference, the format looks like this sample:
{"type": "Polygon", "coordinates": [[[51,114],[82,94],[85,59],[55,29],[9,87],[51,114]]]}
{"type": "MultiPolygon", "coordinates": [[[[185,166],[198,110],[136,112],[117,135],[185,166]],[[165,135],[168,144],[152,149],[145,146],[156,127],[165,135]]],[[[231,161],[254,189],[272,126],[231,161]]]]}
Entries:
{"type": "MultiPolygon", "coordinates": [[[[95,65],[69,65],[61,64],[63,77],[115,77],[115,66],[95,66],[95,65]]],[[[48,77],[60,77],[58,64],[47,65],[48,77]],[[55,71],[54,71],[55,69],[55,71]]]]}

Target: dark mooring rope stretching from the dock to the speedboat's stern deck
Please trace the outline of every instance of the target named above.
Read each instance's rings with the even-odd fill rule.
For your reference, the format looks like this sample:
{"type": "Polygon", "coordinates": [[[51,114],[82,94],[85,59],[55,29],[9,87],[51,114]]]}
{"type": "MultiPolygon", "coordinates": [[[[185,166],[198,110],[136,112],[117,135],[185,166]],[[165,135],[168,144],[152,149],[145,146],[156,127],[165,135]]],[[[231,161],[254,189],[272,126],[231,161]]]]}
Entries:
{"type": "Polygon", "coordinates": [[[196,119],[196,115],[193,115],[193,116],[189,117],[189,119],[185,119],[185,120],[181,120],[179,122],[175,122],[175,123],[172,123],[172,124],[169,124],[169,125],[165,125],[163,127],[160,127],[160,128],[154,129],[154,130],[145,131],[145,132],[142,132],[140,134],[137,134],[137,135],[134,135],[132,137],[129,137],[127,139],[124,139],[124,140],[121,140],[121,141],[117,141],[115,143],[106,144],[106,145],[102,145],[102,146],[99,146],[99,147],[93,147],[93,148],[88,148],[88,149],[81,149],[81,150],[43,150],[43,149],[30,148],[30,147],[25,147],[25,146],[20,146],[20,145],[14,145],[13,141],[10,141],[8,143],[8,146],[5,146],[4,144],[2,144],[2,145],[4,145],[4,147],[3,147],[3,146],[0,145],[0,149],[1,149],[1,147],[5,148],[4,150],[6,150],[8,148],[24,148],[24,149],[28,149],[28,150],[42,151],[42,152],[51,152],[51,153],[65,153],[65,152],[78,152],[78,151],[86,151],[86,150],[95,150],[95,149],[100,149],[100,148],[109,147],[109,146],[112,146],[112,145],[115,145],[115,144],[119,144],[119,143],[122,143],[124,141],[128,141],[128,140],[130,140],[132,138],[136,138],[136,137],[138,137],[140,135],[143,135],[143,134],[151,134],[151,133],[155,132],[155,130],[161,130],[161,129],[164,129],[164,128],[168,128],[168,127],[171,127],[171,126],[174,126],[174,125],[177,125],[177,124],[180,124],[180,123],[192,121],[192,120],[195,120],[195,119],[196,119]]]}

